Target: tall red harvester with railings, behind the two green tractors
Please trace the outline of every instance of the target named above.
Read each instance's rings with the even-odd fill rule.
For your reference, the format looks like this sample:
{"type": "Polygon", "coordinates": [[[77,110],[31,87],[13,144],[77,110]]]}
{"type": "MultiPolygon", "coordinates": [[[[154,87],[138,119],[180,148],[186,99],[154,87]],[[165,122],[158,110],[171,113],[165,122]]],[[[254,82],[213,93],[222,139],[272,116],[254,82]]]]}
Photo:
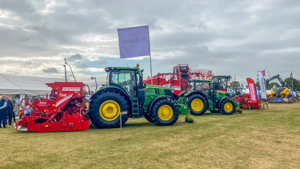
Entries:
{"type": "Polygon", "coordinates": [[[174,94],[178,95],[181,91],[187,90],[187,80],[189,79],[210,79],[212,71],[209,69],[190,69],[186,64],[179,64],[173,67],[173,73],[158,73],[144,80],[144,84],[165,86],[174,89],[174,94]]]}

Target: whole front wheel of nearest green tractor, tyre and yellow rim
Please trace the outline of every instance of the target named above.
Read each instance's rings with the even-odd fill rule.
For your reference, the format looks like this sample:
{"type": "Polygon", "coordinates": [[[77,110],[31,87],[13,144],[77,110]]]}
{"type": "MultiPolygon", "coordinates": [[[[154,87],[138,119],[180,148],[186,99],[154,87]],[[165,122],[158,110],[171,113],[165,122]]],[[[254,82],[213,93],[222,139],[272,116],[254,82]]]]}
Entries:
{"type": "Polygon", "coordinates": [[[179,109],[176,103],[169,99],[163,98],[156,102],[152,108],[152,122],[158,126],[170,126],[176,123],[179,116],[179,109]]]}

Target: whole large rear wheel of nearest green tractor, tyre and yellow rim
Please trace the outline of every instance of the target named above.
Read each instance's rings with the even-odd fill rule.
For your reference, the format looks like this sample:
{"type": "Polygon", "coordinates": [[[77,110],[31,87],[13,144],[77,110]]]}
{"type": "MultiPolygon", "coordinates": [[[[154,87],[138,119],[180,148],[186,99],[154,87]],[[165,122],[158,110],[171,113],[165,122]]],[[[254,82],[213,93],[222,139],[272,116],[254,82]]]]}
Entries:
{"type": "Polygon", "coordinates": [[[102,92],[97,95],[88,107],[88,114],[97,128],[118,128],[120,127],[120,112],[122,114],[122,126],[128,120],[129,106],[127,100],[120,93],[115,91],[102,92]]]}

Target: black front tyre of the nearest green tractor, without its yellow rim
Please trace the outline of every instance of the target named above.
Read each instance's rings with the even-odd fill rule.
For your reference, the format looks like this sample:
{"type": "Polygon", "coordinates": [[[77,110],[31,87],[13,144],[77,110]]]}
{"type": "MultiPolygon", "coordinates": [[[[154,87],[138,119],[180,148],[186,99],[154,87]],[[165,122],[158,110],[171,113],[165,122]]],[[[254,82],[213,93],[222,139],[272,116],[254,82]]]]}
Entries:
{"type": "Polygon", "coordinates": [[[176,103],[174,102],[174,100],[171,100],[169,98],[163,98],[163,99],[159,100],[158,102],[156,102],[151,109],[152,109],[152,111],[151,111],[152,122],[158,126],[171,126],[174,123],[176,123],[176,121],[178,120],[179,109],[176,106],[176,103]],[[173,110],[173,115],[168,120],[163,120],[158,115],[158,110],[164,105],[170,106],[171,109],[173,110]]]}

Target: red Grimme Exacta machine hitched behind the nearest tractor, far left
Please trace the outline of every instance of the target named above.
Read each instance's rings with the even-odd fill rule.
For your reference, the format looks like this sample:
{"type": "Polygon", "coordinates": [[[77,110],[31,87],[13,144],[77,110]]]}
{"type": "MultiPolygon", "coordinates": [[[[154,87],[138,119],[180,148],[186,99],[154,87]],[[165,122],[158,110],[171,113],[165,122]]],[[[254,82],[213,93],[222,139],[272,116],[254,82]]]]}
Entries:
{"type": "Polygon", "coordinates": [[[37,133],[53,131],[79,131],[89,128],[89,118],[85,115],[85,95],[82,82],[46,83],[52,88],[50,99],[21,100],[23,110],[32,110],[30,115],[20,111],[17,131],[33,131],[37,133]]]}

